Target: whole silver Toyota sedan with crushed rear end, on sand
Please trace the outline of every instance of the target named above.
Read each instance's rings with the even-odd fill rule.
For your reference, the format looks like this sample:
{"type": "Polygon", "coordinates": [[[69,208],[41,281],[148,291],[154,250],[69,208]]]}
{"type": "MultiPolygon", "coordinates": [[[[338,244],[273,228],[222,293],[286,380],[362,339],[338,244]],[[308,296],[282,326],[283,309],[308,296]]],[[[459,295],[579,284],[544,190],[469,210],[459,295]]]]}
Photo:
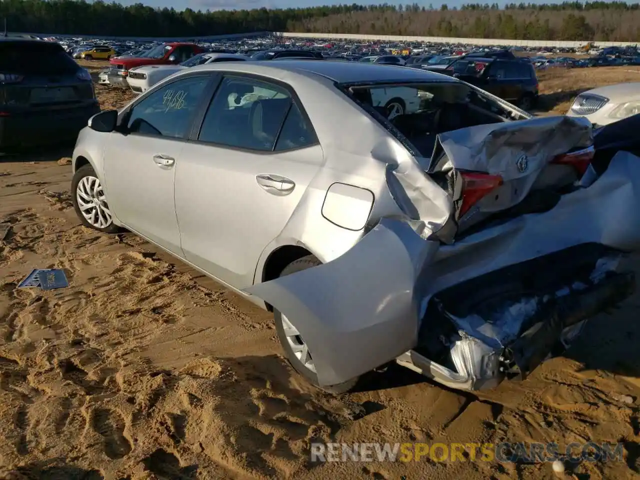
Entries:
{"type": "Polygon", "coordinates": [[[474,390],[634,290],[638,158],[616,138],[598,157],[599,134],[412,68],[204,65],[94,116],[72,192],[84,225],[273,310],[318,387],[397,362],[474,390]]]}

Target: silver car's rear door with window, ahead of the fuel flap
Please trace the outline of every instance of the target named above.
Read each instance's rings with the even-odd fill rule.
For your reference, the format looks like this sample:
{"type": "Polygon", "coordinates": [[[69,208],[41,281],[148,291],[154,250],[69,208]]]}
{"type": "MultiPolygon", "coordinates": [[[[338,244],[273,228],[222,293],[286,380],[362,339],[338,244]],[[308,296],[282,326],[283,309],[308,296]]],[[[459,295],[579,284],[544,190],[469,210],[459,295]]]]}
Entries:
{"type": "Polygon", "coordinates": [[[257,77],[223,77],[176,171],[186,259],[226,284],[252,285],[260,254],[287,225],[322,161],[292,90],[257,77]]]}

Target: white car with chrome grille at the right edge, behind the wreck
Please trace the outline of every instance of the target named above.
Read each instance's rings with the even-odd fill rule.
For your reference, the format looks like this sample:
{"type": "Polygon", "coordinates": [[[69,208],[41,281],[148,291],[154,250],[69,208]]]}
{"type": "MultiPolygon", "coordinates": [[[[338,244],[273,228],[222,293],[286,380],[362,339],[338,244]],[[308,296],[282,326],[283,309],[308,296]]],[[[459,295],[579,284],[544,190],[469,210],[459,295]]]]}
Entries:
{"type": "Polygon", "coordinates": [[[607,125],[640,113],[640,82],[601,86],[578,95],[567,116],[584,116],[607,125]]]}

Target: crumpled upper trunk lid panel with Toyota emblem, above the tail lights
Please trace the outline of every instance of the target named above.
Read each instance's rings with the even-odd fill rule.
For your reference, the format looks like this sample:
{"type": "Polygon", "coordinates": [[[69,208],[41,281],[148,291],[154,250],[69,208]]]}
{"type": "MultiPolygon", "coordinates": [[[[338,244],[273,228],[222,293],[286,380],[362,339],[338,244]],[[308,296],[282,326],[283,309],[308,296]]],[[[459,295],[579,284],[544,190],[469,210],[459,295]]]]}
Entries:
{"type": "Polygon", "coordinates": [[[582,117],[546,116],[477,125],[438,134],[438,143],[453,168],[502,175],[505,180],[542,170],[556,155],[593,143],[592,125],[582,117]],[[527,157],[527,168],[517,160],[527,157]]]}

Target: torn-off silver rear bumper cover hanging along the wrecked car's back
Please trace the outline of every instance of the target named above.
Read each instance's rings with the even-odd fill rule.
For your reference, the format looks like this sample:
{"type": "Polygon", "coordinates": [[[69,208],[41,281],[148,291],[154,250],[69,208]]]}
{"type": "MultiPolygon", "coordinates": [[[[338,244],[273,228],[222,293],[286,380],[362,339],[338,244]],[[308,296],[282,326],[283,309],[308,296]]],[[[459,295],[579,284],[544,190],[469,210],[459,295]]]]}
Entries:
{"type": "Polygon", "coordinates": [[[307,342],[321,385],[335,385],[415,347],[433,294],[495,269],[573,245],[640,249],[640,158],[618,152],[589,188],[554,209],[487,228],[453,245],[383,218],[348,252],[246,292],[284,313],[307,342]]]}

